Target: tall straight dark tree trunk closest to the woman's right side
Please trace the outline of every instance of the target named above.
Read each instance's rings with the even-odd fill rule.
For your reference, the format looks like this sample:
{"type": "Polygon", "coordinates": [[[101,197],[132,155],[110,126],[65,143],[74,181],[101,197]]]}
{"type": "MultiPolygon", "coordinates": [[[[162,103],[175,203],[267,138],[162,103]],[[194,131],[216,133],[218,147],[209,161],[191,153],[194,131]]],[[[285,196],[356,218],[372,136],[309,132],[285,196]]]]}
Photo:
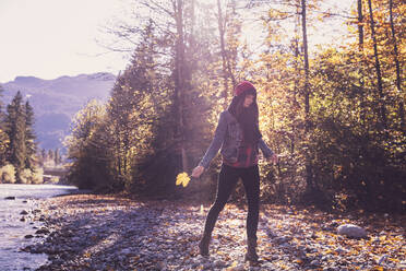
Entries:
{"type": "MultiPolygon", "coordinates": [[[[310,130],[310,104],[309,104],[309,54],[308,54],[308,34],[306,27],[306,0],[301,0],[301,27],[303,35],[303,55],[304,55],[304,134],[309,133],[310,130]]],[[[308,189],[312,191],[314,189],[312,178],[312,165],[310,161],[309,149],[306,154],[306,182],[308,189]]]]}

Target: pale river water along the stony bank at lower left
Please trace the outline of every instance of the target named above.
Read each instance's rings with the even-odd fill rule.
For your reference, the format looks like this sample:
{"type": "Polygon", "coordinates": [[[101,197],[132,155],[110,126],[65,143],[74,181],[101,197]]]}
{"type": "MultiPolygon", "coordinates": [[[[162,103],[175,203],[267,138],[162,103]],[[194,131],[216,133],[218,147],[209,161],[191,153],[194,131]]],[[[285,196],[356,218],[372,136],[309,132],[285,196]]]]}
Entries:
{"type": "Polygon", "coordinates": [[[35,210],[35,199],[44,199],[58,195],[76,192],[77,188],[58,185],[3,185],[0,184],[0,270],[21,271],[35,270],[47,262],[45,254],[28,254],[21,251],[27,245],[41,241],[35,232],[43,223],[38,221],[20,221],[23,210],[31,213],[35,210]],[[15,200],[5,200],[15,197],[15,200]],[[35,228],[36,227],[36,228],[35,228]]]}

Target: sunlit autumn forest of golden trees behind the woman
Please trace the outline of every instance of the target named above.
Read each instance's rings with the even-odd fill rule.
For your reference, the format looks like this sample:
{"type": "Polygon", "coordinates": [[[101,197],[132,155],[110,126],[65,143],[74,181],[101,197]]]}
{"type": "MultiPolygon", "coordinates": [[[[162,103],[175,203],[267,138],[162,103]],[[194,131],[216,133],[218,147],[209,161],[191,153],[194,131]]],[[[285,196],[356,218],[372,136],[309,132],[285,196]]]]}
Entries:
{"type": "MultiPolygon", "coordinates": [[[[135,35],[135,46],[109,101],[89,102],[74,119],[70,181],[154,198],[213,196],[219,163],[186,189],[176,175],[196,165],[234,86],[249,80],[263,138],[282,156],[261,162],[264,201],[405,210],[405,4],[354,1],[339,40],[315,46],[309,26],[331,27],[337,16],[326,1],[226,2],[139,1],[134,15],[148,14],[145,23],[110,30],[135,35]],[[249,17],[256,46],[243,38],[249,17]]],[[[238,187],[232,197],[241,195],[238,187]]]]}

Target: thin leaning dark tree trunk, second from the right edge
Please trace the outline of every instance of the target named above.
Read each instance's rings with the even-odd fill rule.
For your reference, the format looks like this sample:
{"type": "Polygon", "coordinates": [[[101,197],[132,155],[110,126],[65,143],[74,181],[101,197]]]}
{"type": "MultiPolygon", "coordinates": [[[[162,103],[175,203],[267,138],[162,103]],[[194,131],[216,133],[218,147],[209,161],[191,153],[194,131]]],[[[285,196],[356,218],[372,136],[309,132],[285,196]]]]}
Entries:
{"type": "Polygon", "coordinates": [[[380,97],[379,104],[380,104],[381,120],[382,120],[383,128],[386,129],[387,128],[386,110],[385,110],[384,96],[383,96],[381,64],[379,62],[379,56],[378,56],[378,44],[377,44],[375,26],[373,22],[371,0],[368,0],[368,5],[369,5],[369,16],[371,20],[371,35],[372,35],[372,42],[373,42],[373,55],[375,59],[375,71],[377,71],[377,80],[378,80],[378,94],[380,97]]]}

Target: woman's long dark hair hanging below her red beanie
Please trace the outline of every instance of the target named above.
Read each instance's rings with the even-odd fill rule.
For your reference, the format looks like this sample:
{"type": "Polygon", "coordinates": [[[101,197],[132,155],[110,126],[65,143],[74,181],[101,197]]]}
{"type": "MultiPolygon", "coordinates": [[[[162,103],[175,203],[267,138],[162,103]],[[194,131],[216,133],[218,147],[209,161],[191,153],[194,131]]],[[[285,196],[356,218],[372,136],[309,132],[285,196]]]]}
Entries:
{"type": "Polygon", "coordinates": [[[237,119],[242,129],[244,143],[256,143],[262,137],[259,129],[259,109],[256,104],[256,92],[246,91],[238,96],[234,96],[228,111],[237,119]],[[253,102],[249,107],[243,107],[247,95],[253,95],[253,102]]]}

